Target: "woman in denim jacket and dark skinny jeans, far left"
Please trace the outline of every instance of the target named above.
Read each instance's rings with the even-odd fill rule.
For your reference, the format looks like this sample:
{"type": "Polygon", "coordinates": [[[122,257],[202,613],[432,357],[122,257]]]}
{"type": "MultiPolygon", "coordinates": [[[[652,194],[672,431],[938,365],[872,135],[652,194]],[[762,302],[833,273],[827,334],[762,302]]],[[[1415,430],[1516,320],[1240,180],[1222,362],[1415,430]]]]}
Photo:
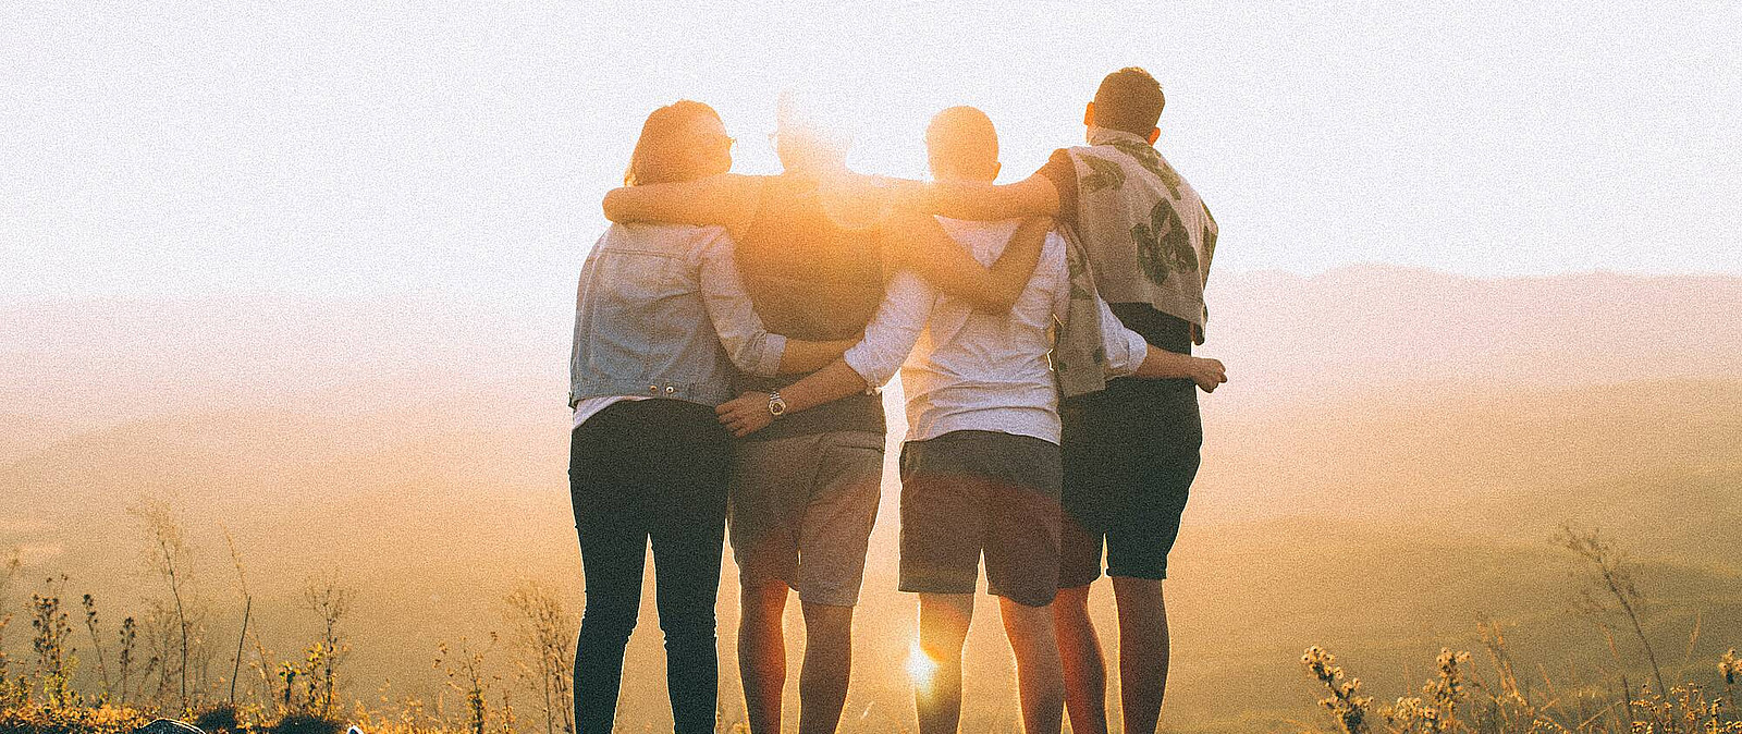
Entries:
{"type": "MultiPolygon", "coordinates": [[[[679,101],[648,115],[624,183],[730,167],[719,115],[679,101]]],[[[575,645],[580,734],[615,724],[650,542],[676,732],[714,731],[714,596],[732,459],[714,406],[732,398],[735,368],[803,373],[852,343],[768,333],[721,227],[611,225],[594,244],[580,270],[568,392],[568,479],[587,593],[575,645]]]]}

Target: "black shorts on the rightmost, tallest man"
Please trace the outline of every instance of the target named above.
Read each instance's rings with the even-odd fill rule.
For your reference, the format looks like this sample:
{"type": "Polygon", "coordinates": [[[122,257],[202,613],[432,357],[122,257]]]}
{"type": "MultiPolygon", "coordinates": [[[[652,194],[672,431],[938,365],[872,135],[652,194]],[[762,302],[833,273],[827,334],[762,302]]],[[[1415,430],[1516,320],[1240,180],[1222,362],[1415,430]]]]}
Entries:
{"type": "Polygon", "coordinates": [[[1059,588],[1106,575],[1165,579],[1197,478],[1204,424],[1190,380],[1113,380],[1066,399],[1059,588]]]}

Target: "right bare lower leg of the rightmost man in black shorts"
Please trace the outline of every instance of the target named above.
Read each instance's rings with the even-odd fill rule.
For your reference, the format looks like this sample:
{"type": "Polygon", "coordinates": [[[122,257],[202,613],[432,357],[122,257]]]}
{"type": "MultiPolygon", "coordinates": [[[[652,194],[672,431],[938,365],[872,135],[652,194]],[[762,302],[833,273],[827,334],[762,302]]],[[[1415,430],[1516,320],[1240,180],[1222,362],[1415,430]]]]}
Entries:
{"type": "Polygon", "coordinates": [[[1118,603],[1118,692],[1125,731],[1153,734],[1167,694],[1167,605],[1162,582],[1113,577],[1118,603]]]}

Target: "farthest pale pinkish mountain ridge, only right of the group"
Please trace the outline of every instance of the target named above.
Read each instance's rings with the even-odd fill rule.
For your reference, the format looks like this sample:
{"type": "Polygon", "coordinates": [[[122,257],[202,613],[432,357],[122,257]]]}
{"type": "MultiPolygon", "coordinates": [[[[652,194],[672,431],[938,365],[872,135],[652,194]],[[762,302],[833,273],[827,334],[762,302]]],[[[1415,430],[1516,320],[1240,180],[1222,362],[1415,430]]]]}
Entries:
{"type": "Polygon", "coordinates": [[[1742,277],[1475,279],[1366,265],[1211,279],[1230,401],[1362,385],[1556,387],[1742,375],[1742,277]]]}

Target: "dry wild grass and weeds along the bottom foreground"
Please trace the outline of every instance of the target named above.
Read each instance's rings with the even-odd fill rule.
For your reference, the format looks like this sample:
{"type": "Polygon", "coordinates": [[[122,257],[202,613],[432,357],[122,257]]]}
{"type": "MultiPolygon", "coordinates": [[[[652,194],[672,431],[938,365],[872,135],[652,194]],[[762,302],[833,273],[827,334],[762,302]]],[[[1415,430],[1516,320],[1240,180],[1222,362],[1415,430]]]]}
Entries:
{"type": "MultiPolygon", "coordinates": [[[[186,561],[190,537],[162,507],[152,513],[145,530],[164,593],[153,605],[153,617],[146,617],[150,640],[143,649],[136,645],[139,624],[132,617],[124,619],[118,631],[105,626],[91,595],[77,596],[80,633],[63,605],[63,600],[75,600],[66,591],[68,579],[47,579],[23,608],[33,633],[31,659],[3,657],[0,647],[0,734],[129,732],[157,717],[192,720],[207,732],[336,734],[350,724],[368,734],[571,732],[570,661],[577,615],[552,589],[524,584],[502,600],[509,635],[490,635],[484,643],[460,638],[432,650],[434,669],[446,678],[434,699],[392,697],[383,689],[375,701],[364,701],[348,696],[343,685],[348,682],[347,621],[355,591],[334,575],[317,575],[303,593],[303,610],[317,622],[317,636],[291,661],[273,659],[256,638],[254,661],[247,663],[261,673],[261,685],[237,689],[233,678],[244,663],[249,631],[239,633],[235,657],[219,661],[230,671],[228,680],[204,675],[202,661],[209,656],[202,652],[202,619],[207,610],[186,561]],[[75,676],[82,663],[75,642],[85,633],[94,666],[75,676]],[[118,645],[108,647],[105,640],[118,645]],[[277,673],[277,680],[270,680],[270,673],[277,673]],[[84,682],[84,689],[77,682],[84,682]]],[[[1392,701],[1376,701],[1364,692],[1371,687],[1336,656],[1312,647],[1301,664],[1324,689],[1319,704],[1326,720],[1296,729],[1341,734],[1742,734],[1737,708],[1742,659],[1735,650],[1719,656],[1716,664],[1691,668],[1704,675],[1676,673],[1702,680],[1667,678],[1658,650],[1641,629],[1641,614],[1653,601],[1641,591],[1646,579],[1639,567],[1596,534],[1568,528],[1556,542],[1585,570],[1589,582],[1575,607],[1606,643],[1611,666],[1550,678],[1540,666],[1516,663],[1502,624],[1484,619],[1477,626],[1481,659],[1444,649],[1420,687],[1392,701]],[[1519,669],[1543,673],[1526,673],[1531,680],[1523,680],[1519,669]]],[[[240,615],[247,614],[251,596],[233,544],[230,558],[244,582],[237,596],[240,615]]],[[[0,565],[0,635],[14,617],[9,593],[17,570],[16,554],[0,565]]],[[[1698,636],[1697,622],[1688,656],[1698,636]]],[[[744,727],[723,720],[719,731],[740,732],[744,727]]],[[[876,729],[861,725],[861,731],[876,729]]]]}

